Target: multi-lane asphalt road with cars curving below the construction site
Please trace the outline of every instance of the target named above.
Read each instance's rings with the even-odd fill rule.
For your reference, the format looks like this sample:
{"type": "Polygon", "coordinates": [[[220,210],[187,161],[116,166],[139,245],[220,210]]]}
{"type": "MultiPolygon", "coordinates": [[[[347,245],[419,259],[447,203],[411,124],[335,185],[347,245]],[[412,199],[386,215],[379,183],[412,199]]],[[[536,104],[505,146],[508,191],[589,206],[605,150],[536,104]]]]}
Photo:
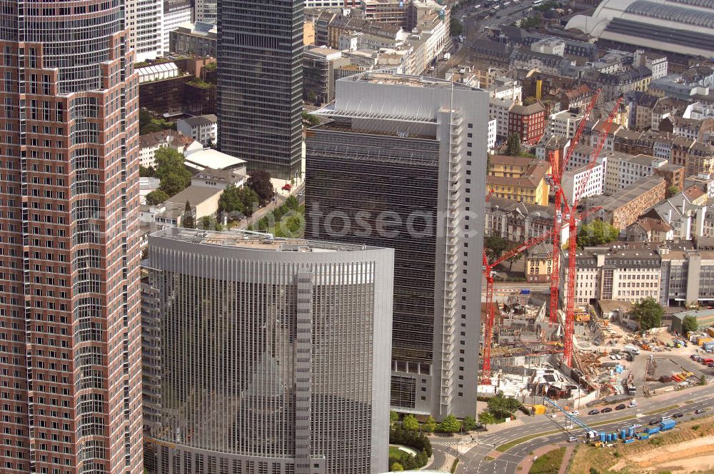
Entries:
{"type": "MultiPolygon", "coordinates": [[[[711,406],[714,403],[714,393],[711,393],[710,387],[695,387],[678,392],[665,393],[653,398],[638,398],[639,406],[636,409],[613,410],[610,413],[600,413],[598,415],[580,415],[578,418],[588,423],[603,423],[607,420],[623,418],[628,415],[635,415],[636,418],[624,420],[616,423],[608,423],[606,425],[594,426],[594,430],[607,431],[608,433],[615,431],[617,428],[624,428],[632,423],[647,425],[650,420],[658,418],[661,415],[671,415],[673,413],[685,413],[684,418],[678,420],[687,420],[693,418],[693,412],[697,408],[711,406]],[[660,407],[665,407],[673,404],[684,405],[674,410],[668,410],[656,415],[645,415],[645,412],[656,410],[660,407]]],[[[614,408],[614,407],[613,407],[614,408]]],[[[583,411],[583,413],[585,413],[583,411]]],[[[513,428],[506,428],[495,433],[479,433],[478,444],[469,449],[466,453],[459,455],[460,462],[456,469],[456,474],[492,474],[506,473],[516,474],[516,467],[523,459],[528,456],[528,453],[540,446],[545,446],[552,443],[563,442],[570,436],[578,436],[583,434],[583,430],[578,428],[565,432],[563,430],[563,415],[558,415],[557,418],[550,418],[550,415],[538,415],[535,417],[523,418],[523,425],[518,425],[513,428]],[[554,433],[541,438],[529,440],[526,443],[516,445],[506,453],[502,453],[496,460],[486,461],[484,457],[496,449],[499,445],[508,443],[511,440],[523,438],[535,433],[545,433],[553,430],[561,430],[560,433],[554,433]]],[[[448,439],[433,439],[432,445],[436,456],[437,452],[454,454],[453,440],[448,439]]],[[[463,448],[461,449],[463,451],[463,448]]],[[[434,464],[437,466],[437,464],[434,464]]],[[[443,465],[443,461],[441,461],[443,465]]]]}

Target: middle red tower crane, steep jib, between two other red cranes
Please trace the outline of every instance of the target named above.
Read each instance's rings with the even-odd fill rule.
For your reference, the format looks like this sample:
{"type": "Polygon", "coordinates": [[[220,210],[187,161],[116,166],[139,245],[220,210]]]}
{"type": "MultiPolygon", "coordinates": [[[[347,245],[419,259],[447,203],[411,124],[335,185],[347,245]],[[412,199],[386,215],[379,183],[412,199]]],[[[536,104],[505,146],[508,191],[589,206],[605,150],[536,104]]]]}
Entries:
{"type": "MultiPolygon", "coordinates": [[[[561,180],[563,179],[563,171],[565,167],[570,163],[570,156],[573,155],[575,147],[578,146],[580,142],[580,136],[583,135],[583,130],[585,129],[585,122],[590,118],[590,113],[592,113],[595,104],[600,96],[600,90],[598,89],[593,94],[593,98],[590,99],[590,104],[588,104],[585,113],[583,114],[583,119],[578,123],[578,128],[575,130],[575,135],[570,139],[570,146],[568,146],[568,152],[565,153],[565,157],[561,157],[560,153],[550,152],[548,155],[548,160],[550,161],[550,181],[551,186],[555,188],[555,212],[553,213],[553,228],[560,227],[563,223],[563,191],[561,180]]],[[[560,285],[560,234],[553,236],[553,256],[551,261],[551,272],[552,277],[550,278],[550,322],[558,322],[558,291],[560,285]]]]}

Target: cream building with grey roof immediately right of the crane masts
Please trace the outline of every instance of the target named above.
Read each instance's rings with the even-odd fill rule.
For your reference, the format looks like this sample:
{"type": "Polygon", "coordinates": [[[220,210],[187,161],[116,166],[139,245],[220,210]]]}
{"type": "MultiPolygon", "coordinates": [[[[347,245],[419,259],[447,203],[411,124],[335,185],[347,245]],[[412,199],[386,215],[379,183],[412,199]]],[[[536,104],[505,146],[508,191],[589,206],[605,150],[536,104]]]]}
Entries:
{"type": "MultiPolygon", "coordinates": [[[[568,298],[568,252],[560,256],[561,297],[568,298]]],[[[575,254],[576,305],[595,300],[629,301],[660,298],[660,256],[649,248],[585,247],[575,254]]]]}

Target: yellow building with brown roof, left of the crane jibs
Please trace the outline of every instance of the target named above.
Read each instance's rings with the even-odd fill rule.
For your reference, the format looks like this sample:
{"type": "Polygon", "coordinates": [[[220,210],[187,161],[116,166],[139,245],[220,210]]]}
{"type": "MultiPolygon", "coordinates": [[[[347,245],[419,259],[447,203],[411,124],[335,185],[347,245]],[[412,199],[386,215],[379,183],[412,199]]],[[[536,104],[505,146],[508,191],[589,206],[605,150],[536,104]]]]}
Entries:
{"type": "Polygon", "coordinates": [[[493,189],[494,196],[523,203],[548,204],[550,186],[545,176],[550,173],[550,163],[523,156],[491,155],[486,170],[486,192],[493,189]]]}

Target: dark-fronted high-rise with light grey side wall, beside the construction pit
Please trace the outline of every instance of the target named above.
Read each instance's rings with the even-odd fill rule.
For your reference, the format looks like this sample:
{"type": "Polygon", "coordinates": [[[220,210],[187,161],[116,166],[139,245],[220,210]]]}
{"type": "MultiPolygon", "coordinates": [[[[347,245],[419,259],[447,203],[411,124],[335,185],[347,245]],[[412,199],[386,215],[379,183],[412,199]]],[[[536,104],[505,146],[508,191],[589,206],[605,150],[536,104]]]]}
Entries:
{"type": "Polygon", "coordinates": [[[395,250],[396,409],[475,414],[486,110],[465,84],[365,73],[307,131],[306,236],[395,250]]]}

